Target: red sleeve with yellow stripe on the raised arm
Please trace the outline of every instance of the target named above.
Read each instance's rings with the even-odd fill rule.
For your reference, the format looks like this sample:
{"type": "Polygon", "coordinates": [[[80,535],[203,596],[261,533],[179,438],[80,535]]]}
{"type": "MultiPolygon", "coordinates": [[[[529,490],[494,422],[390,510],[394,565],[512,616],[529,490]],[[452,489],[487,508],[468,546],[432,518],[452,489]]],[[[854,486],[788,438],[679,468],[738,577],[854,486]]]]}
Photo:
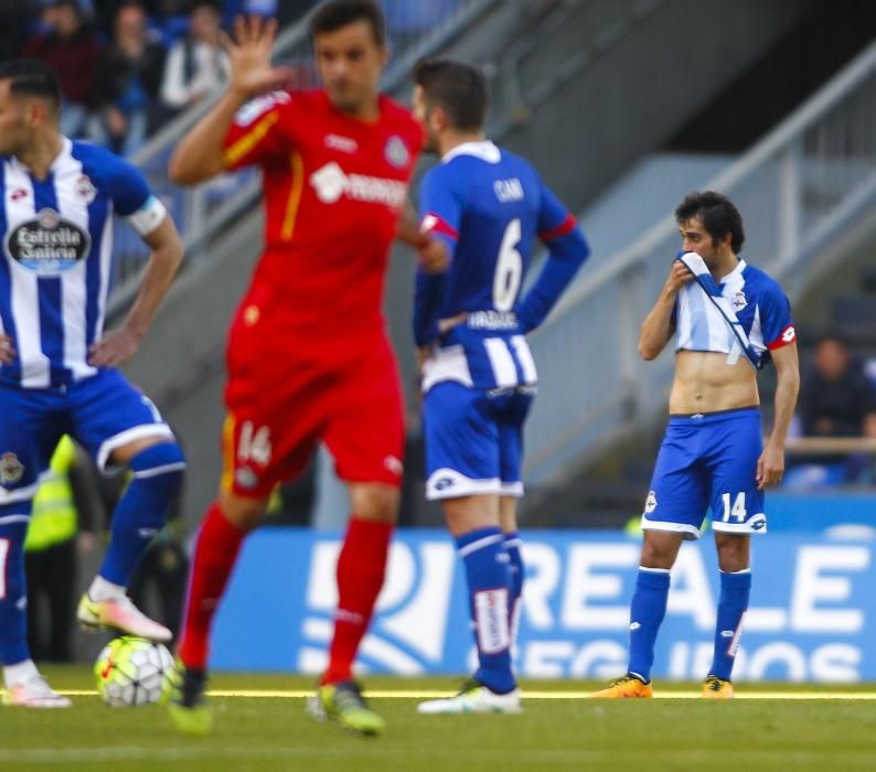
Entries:
{"type": "Polygon", "coordinates": [[[271,92],[237,110],[223,144],[225,168],[264,165],[281,154],[286,141],[279,131],[279,122],[291,105],[292,97],[287,92],[271,92]]]}

